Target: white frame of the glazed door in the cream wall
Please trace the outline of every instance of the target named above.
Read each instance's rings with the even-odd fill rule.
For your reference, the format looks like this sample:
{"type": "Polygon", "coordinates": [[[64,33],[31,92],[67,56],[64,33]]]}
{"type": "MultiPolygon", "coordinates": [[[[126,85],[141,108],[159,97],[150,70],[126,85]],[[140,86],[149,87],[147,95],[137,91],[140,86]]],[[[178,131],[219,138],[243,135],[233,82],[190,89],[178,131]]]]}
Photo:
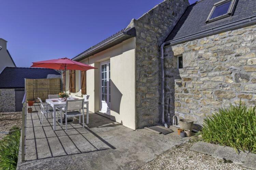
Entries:
{"type": "Polygon", "coordinates": [[[103,112],[103,113],[106,113],[108,115],[110,115],[110,83],[109,83],[109,80],[110,80],[110,75],[109,75],[109,65],[110,65],[110,61],[105,61],[105,62],[102,62],[100,63],[100,111],[103,112]],[[101,74],[101,66],[102,65],[107,65],[106,67],[106,72],[107,72],[107,101],[106,101],[106,104],[108,105],[108,108],[107,110],[102,110],[102,74],[101,74]]]}

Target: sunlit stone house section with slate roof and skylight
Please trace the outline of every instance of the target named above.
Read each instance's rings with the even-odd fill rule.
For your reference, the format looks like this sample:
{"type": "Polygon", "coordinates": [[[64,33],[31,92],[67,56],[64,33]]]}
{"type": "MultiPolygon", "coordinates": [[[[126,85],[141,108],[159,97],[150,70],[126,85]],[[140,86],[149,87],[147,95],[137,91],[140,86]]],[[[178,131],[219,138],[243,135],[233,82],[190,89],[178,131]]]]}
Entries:
{"type": "Polygon", "coordinates": [[[256,104],[256,3],[219,1],[190,5],[165,40],[165,112],[200,125],[240,99],[256,104]]]}

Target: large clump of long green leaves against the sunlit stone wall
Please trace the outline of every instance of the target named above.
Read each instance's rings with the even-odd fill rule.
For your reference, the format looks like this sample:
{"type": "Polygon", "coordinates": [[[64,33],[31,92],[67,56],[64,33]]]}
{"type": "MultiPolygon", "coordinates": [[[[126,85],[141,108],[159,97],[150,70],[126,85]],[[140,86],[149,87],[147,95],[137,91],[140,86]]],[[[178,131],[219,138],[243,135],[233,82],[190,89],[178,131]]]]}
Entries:
{"type": "Polygon", "coordinates": [[[203,122],[205,142],[229,146],[256,153],[256,110],[246,105],[219,109],[203,122]]]}

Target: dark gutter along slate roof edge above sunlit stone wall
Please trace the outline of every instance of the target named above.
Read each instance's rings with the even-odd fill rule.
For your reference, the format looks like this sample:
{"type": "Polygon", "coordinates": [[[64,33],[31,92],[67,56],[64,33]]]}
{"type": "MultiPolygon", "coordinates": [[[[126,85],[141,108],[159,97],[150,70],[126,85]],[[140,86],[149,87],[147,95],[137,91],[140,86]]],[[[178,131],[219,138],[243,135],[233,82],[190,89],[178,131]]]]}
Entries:
{"type": "Polygon", "coordinates": [[[250,26],[255,23],[256,23],[256,15],[253,15],[251,17],[247,17],[247,18],[240,19],[237,21],[229,22],[229,23],[223,24],[221,26],[213,27],[208,30],[200,31],[197,33],[183,36],[181,38],[176,38],[176,39],[173,39],[170,41],[166,41],[165,47],[184,43],[186,41],[199,39],[199,38],[206,37],[206,36],[211,36],[211,35],[221,33],[224,31],[229,31],[229,30],[233,30],[233,29],[237,29],[237,28],[241,28],[241,27],[245,27],[245,26],[250,26]]]}

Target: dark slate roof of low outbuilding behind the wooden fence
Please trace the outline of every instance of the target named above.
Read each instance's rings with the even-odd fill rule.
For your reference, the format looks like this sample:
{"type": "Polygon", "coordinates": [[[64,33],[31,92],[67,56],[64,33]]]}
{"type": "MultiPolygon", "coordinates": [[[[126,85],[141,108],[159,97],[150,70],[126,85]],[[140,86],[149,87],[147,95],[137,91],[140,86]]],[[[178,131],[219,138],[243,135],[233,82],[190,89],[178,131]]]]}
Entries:
{"type": "Polygon", "coordinates": [[[46,79],[48,74],[60,75],[47,68],[5,67],[0,74],[0,88],[24,88],[24,79],[46,79]]]}

